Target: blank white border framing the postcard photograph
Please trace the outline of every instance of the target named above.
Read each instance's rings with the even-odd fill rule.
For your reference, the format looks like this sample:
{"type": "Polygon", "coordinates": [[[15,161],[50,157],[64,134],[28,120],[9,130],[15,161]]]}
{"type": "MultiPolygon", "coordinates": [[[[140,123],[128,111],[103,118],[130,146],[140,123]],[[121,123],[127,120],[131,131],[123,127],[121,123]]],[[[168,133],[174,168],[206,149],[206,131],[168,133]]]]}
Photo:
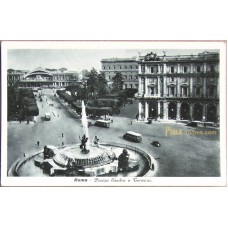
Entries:
{"type": "MultiPolygon", "coordinates": [[[[2,42],[2,144],[1,184],[3,186],[226,186],[226,42],[224,41],[5,41],[2,42]],[[63,45],[64,42],[64,45],[63,45]],[[152,177],[151,182],[75,182],[75,178],[7,177],[7,50],[8,49],[219,49],[220,50],[220,159],[221,177],[152,177]],[[224,106],[225,105],[225,106],[224,106]]],[[[100,178],[102,179],[102,178],[100,178]]],[[[130,179],[130,182],[128,180],[130,179]]],[[[147,180],[148,178],[140,178],[147,180]]]]}

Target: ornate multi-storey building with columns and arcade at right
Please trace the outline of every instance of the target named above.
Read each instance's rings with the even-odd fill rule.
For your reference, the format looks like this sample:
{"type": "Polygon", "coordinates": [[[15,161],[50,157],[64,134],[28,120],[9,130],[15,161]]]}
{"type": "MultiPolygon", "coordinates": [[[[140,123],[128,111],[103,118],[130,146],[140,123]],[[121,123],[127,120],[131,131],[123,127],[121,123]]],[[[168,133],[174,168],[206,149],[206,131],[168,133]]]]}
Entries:
{"type": "Polygon", "coordinates": [[[139,57],[139,119],[216,122],[219,53],[139,57]]]}

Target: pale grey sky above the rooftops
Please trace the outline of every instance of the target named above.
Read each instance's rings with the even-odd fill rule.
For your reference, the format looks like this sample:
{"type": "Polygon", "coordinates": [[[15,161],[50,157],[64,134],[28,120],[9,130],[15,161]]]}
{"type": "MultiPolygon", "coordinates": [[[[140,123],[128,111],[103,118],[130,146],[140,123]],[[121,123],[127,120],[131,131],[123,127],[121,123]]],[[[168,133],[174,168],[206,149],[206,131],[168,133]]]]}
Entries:
{"type": "MultiPolygon", "coordinates": [[[[37,67],[82,71],[101,70],[101,59],[131,58],[153,51],[163,55],[162,49],[8,49],[7,69],[34,70],[37,67]]],[[[166,49],[166,55],[197,55],[205,49],[166,49]]]]}

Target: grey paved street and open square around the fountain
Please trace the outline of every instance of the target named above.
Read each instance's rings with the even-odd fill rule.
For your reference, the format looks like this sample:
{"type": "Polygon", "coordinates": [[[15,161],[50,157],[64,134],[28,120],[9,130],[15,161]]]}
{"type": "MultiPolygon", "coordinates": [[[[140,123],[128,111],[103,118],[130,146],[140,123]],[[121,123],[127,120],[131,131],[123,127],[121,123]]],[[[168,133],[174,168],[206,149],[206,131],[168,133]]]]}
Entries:
{"type": "MultiPolygon", "coordinates": [[[[43,94],[43,101],[37,101],[40,115],[36,123],[8,122],[8,168],[24,153],[35,153],[44,145],[79,143],[79,136],[83,134],[80,119],[54,97],[52,90],[44,90],[43,94]],[[44,120],[46,112],[51,113],[51,121],[44,120]],[[40,142],[39,147],[37,141],[40,142]]],[[[131,118],[136,113],[129,114],[129,110],[135,110],[137,102],[131,105],[127,105],[119,116],[113,116],[110,128],[91,126],[90,138],[97,135],[101,141],[125,143],[144,149],[158,162],[157,176],[220,175],[219,130],[190,128],[176,123],[136,122],[131,118]],[[128,115],[124,117],[124,113],[128,115]],[[141,133],[142,143],[125,141],[122,136],[128,130],[141,133]],[[193,133],[188,134],[190,131],[193,133]],[[202,132],[196,135],[194,131],[202,132]],[[206,134],[208,132],[210,135],[206,134]],[[152,146],[154,140],[159,141],[161,147],[152,146]]]]}

